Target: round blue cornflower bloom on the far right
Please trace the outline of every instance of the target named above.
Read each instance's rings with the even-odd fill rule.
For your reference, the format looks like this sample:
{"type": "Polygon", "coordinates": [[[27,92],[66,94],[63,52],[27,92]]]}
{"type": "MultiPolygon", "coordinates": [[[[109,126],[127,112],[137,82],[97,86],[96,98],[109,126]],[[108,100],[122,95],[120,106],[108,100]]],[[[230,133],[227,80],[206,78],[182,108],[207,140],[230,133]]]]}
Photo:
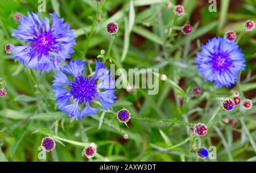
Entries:
{"type": "Polygon", "coordinates": [[[230,43],[221,37],[214,37],[195,59],[197,69],[204,75],[205,81],[214,81],[214,86],[229,87],[235,84],[240,69],[245,69],[245,58],[236,41],[230,43]]]}

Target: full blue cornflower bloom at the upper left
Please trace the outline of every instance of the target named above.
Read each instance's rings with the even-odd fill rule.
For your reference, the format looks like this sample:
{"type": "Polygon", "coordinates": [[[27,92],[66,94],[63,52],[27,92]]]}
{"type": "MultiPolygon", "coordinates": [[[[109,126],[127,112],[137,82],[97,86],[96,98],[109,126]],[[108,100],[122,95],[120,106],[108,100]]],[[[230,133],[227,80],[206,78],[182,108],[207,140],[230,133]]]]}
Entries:
{"type": "Polygon", "coordinates": [[[60,62],[65,58],[71,58],[74,52],[72,46],[76,44],[75,30],[69,29],[69,23],[63,23],[53,13],[52,25],[49,19],[41,19],[38,14],[30,14],[20,18],[20,26],[11,36],[24,40],[28,45],[14,47],[13,57],[19,59],[19,63],[26,64],[26,68],[36,69],[40,72],[59,70],[60,62]]]}

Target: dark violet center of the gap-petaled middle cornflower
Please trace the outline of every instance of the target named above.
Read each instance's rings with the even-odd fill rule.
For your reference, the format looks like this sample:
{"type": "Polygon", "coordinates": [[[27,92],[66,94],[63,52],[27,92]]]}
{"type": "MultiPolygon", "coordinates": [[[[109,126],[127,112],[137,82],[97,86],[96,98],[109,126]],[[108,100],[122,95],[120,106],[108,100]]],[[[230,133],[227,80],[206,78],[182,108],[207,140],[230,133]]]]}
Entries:
{"type": "Polygon", "coordinates": [[[78,99],[79,104],[85,102],[92,102],[98,94],[96,81],[89,79],[86,75],[83,77],[78,75],[71,83],[71,96],[73,99],[78,99]]]}

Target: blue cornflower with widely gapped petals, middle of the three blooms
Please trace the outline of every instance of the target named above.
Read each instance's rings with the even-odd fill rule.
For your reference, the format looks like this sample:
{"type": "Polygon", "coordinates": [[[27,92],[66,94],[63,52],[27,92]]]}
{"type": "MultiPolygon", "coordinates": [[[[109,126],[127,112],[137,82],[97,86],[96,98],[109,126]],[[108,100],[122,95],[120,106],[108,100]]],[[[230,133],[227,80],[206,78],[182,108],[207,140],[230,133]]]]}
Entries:
{"type": "Polygon", "coordinates": [[[114,104],[114,99],[117,98],[114,95],[116,90],[113,90],[115,81],[104,64],[96,61],[92,78],[82,74],[86,69],[85,65],[86,61],[72,60],[68,65],[61,67],[61,71],[56,71],[55,80],[52,81],[57,108],[63,113],[68,113],[69,117],[75,116],[77,120],[100,111],[99,108],[90,107],[93,101],[100,101],[101,106],[108,111],[108,108],[113,109],[111,104],[114,104]],[[68,77],[68,74],[72,77],[68,77]]]}

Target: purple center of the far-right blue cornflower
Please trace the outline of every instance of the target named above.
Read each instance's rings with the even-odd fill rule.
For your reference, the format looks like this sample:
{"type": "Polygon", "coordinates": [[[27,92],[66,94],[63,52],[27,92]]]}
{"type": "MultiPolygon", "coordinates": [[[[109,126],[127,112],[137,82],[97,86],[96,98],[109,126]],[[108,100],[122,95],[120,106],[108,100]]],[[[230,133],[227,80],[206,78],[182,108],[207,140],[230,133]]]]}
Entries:
{"type": "Polygon", "coordinates": [[[226,52],[218,52],[213,54],[211,58],[210,63],[215,70],[222,72],[232,65],[232,62],[229,61],[229,54],[226,52]]]}

